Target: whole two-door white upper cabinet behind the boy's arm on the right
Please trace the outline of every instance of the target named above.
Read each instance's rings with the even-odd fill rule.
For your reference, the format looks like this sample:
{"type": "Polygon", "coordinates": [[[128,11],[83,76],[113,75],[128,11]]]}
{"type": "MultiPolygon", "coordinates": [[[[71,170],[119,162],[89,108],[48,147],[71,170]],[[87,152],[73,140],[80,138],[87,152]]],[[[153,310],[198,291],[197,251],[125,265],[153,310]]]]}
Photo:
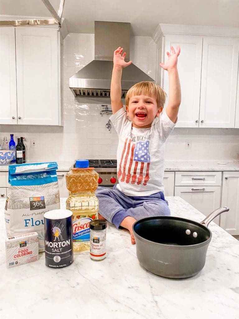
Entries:
{"type": "Polygon", "coordinates": [[[157,42],[157,82],[167,95],[168,72],[159,63],[177,45],[182,91],[177,127],[234,128],[239,38],[163,33],[157,42]]]}

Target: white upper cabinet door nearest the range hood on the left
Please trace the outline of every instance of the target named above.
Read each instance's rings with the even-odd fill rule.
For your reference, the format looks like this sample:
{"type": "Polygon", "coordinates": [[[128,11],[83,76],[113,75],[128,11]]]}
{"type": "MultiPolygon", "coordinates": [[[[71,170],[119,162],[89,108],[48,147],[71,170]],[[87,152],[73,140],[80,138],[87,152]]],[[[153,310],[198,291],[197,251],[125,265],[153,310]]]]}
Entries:
{"type": "Polygon", "coordinates": [[[18,124],[58,125],[58,30],[16,28],[18,124]]]}

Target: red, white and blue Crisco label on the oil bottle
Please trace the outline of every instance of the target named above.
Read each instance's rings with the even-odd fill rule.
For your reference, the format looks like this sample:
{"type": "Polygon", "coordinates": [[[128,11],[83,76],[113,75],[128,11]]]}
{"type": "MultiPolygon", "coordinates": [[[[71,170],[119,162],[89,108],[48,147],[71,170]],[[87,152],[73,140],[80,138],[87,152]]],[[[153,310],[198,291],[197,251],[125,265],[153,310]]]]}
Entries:
{"type": "Polygon", "coordinates": [[[96,214],[87,215],[87,217],[73,215],[73,242],[90,241],[90,222],[95,218],[96,214]]]}

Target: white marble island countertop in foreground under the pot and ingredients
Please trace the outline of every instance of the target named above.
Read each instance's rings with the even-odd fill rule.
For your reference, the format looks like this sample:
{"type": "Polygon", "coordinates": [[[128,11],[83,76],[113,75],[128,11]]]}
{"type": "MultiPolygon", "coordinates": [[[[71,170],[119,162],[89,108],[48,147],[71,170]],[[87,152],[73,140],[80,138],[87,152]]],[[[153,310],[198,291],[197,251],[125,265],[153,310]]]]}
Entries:
{"type": "MultiPolygon", "coordinates": [[[[65,198],[61,208],[65,208],[65,198]]],[[[172,216],[198,222],[204,215],[180,197],[167,197],[172,216]]],[[[39,260],[5,266],[4,204],[0,200],[1,318],[238,319],[239,241],[214,222],[206,264],[194,277],[168,279],[142,268],[127,230],[108,223],[107,257],[74,254],[74,263],[48,269],[39,260]]],[[[226,212],[224,214],[227,214],[226,212]]]]}

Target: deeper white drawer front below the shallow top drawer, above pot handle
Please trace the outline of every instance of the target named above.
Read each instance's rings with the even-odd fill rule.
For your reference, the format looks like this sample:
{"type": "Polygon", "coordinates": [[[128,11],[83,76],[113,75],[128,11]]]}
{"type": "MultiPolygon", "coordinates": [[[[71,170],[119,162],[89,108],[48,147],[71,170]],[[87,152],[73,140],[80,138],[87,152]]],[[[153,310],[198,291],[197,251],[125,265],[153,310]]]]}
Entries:
{"type": "MultiPolygon", "coordinates": [[[[174,188],[174,196],[182,197],[206,216],[220,207],[220,192],[221,186],[175,186],[174,188]]],[[[213,221],[219,225],[220,215],[213,221]]]]}

